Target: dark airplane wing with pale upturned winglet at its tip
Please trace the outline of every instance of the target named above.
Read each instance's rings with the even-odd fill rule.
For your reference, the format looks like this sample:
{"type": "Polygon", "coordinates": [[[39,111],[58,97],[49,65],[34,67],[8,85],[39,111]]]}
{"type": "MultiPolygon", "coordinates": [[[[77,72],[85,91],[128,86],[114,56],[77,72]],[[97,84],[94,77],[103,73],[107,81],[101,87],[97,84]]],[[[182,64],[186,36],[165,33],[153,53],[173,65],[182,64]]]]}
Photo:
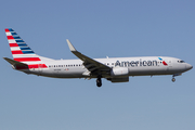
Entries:
{"type": "Polygon", "coordinates": [[[91,57],[83,55],[82,53],[78,52],[74,46],[70,43],[68,39],[66,39],[69,50],[81,61],[83,61],[84,67],[89,70],[83,73],[82,75],[90,76],[90,75],[103,75],[110,72],[110,67],[104,65],[91,57]]]}

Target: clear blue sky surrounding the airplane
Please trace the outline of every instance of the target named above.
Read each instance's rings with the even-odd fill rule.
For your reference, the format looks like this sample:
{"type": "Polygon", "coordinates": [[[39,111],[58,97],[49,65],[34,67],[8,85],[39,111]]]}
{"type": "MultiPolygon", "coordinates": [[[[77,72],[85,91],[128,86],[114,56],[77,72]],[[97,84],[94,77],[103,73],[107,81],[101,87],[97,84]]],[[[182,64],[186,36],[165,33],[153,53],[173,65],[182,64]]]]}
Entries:
{"type": "MultiPolygon", "coordinates": [[[[4,28],[39,55],[77,58],[173,56],[195,65],[193,0],[9,0],[0,4],[0,55],[12,57],[4,28]]],[[[0,130],[194,130],[194,69],[127,83],[52,79],[0,60],[0,130]]]]}

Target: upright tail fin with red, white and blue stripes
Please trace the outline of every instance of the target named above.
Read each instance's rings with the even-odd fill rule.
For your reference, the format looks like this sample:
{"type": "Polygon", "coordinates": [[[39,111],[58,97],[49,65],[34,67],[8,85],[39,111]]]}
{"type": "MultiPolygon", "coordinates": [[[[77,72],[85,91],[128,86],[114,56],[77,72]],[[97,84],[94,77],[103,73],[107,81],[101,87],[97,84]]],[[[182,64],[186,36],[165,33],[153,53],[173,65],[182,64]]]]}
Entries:
{"type": "Polygon", "coordinates": [[[40,56],[12,28],[6,28],[5,34],[14,61],[27,64],[28,66],[41,65],[47,67],[42,64],[40,56]]]}

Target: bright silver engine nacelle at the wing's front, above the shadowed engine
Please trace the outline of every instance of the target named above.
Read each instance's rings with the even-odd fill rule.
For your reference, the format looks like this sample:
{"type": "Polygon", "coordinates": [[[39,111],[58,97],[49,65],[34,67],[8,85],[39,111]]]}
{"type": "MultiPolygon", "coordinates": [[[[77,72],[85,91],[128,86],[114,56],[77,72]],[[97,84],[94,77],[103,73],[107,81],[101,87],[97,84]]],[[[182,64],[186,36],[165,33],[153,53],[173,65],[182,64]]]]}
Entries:
{"type": "Polygon", "coordinates": [[[112,76],[128,76],[129,68],[128,67],[114,67],[110,72],[112,76]]]}

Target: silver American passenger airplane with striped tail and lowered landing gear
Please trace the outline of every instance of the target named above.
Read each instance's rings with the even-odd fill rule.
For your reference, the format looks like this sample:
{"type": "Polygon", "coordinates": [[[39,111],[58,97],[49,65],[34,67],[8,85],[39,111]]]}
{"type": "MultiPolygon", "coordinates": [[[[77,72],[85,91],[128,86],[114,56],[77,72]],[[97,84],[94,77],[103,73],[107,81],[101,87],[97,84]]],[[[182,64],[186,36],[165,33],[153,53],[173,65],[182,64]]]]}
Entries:
{"type": "Polygon", "coordinates": [[[6,28],[9,46],[13,60],[3,57],[16,70],[52,78],[96,78],[96,86],[102,86],[102,78],[112,82],[128,82],[129,76],[176,76],[193,68],[191,64],[169,56],[106,57],[91,58],[75,49],[66,39],[69,50],[79,60],[53,60],[37,55],[26,42],[12,29],[6,28]]]}

